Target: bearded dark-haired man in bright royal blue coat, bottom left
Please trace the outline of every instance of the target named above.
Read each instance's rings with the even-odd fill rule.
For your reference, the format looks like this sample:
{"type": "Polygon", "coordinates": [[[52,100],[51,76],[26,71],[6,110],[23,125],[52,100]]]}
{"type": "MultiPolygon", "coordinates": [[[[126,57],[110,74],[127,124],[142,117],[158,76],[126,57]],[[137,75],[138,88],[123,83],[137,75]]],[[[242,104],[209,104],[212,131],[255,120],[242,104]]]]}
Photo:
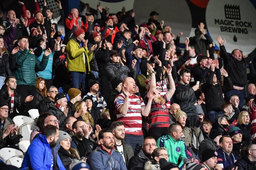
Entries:
{"type": "Polygon", "coordinates": [[[39,169],[59,169],[65,170],[57,152],[53,152],[51,148],[57,145],[59,139],[59,130],[54,125],[44,127],[42,134],[32,141],[24,156],[21,170],[29,168],[39,169]]]}

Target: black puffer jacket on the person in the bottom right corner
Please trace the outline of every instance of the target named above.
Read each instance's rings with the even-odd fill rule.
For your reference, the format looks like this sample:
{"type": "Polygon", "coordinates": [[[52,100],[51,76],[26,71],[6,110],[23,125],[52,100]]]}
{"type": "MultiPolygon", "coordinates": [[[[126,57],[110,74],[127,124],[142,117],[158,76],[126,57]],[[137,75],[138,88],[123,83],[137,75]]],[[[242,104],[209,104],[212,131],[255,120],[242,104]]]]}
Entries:
{"type": "Polygon", "coordinates": [[[246,150],[241,150],[241,158],[238,159],[234,166],[238,166],[238,170],[255,170],[256,161],[250,161],[246,155],[246,150]]]}

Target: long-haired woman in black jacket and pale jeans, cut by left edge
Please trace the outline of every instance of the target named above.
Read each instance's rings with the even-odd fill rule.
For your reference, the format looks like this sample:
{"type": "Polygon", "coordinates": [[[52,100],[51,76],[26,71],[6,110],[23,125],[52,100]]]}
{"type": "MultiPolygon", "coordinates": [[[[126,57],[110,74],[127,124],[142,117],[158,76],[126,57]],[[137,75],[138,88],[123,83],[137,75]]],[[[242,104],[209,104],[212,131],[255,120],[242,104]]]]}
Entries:
{"type": "Polygon", "coordinates": [[[15,67],[16,57],[14,54],[17,51],[18,48],[14,48],[10,55],[4,45],[4,37],[0,36],[0,88],[4,85],[6,77],[12,76],[11,69],[15,67]]]}

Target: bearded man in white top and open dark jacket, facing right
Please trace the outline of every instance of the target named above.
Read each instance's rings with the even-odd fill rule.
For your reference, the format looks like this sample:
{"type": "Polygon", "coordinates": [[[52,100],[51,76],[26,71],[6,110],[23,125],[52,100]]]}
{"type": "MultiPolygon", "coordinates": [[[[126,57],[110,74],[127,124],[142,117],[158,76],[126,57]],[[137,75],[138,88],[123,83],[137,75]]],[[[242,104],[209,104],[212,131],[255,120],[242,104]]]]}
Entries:
{"type": "Polygon", "coordinates": [[[112,129],[112,133],[114,135],[115,147],[122,155],[126,166],[128,166],[128,162],[133,156],[133,152],[132,147],[124,141],[124,123],[122,121],[114,121],[111,124],[110,129],[112,129]]]}

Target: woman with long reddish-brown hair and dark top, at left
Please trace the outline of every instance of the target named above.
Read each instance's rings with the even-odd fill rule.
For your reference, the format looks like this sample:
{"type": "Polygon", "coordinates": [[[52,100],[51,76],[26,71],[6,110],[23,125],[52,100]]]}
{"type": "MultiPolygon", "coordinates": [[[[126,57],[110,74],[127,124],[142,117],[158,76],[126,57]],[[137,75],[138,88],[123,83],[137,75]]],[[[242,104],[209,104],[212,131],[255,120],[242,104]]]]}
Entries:
{"type": "Polygon", "coordinates": [[[36,106],[47,96],[45,80],[42,77],[36,78],[36,106]]]}

